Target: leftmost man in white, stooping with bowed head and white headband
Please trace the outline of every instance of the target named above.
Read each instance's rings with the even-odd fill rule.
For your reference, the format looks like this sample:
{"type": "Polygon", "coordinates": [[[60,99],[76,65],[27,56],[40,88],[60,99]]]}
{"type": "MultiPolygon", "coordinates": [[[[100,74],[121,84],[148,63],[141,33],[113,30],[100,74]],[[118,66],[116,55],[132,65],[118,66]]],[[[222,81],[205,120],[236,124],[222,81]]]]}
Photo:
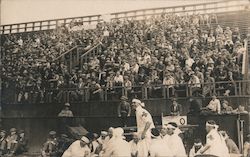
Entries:
{"type": "Polygon", "coordinates": [[[89,139],[83,136],[80,140],[73,142],[63,153],[62,157],[89,157],[90,149],[88,147],[89,139]]]}

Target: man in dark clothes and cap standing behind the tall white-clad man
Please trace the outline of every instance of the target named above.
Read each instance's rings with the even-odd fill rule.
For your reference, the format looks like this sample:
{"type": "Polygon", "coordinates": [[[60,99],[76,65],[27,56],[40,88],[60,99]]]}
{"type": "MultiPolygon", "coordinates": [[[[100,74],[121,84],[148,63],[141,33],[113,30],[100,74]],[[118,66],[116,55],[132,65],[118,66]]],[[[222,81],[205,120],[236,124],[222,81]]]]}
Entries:
{"type": "Polygon", "coordinates": [[[127,126],[127,117],[130,116],[131,107],[130,104],[127,102],[128,98],[126,96],[121,97],[121,102],[117,107],[118,117],[122,119],[122,125],[124,127],[127,126]]]}

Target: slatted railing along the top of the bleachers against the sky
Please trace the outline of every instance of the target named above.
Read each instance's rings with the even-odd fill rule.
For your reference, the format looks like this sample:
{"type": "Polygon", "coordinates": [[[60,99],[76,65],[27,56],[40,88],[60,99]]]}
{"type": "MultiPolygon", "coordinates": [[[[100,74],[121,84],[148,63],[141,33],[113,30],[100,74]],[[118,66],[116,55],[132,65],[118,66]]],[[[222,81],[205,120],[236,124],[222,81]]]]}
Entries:
{"type": "MultiPolygon", "coordinates": [[[[209,3],[199,3],[191,5],[182,5],[175,7],[162,7],[162,8],[151,8],[151,9],[141,9],[111,13],[110,19],[144,19],[152,15],[159,15],[162,13],[175,13],[175,14],[211,14],[220,12],[232,12],[238,10],[244,10],[249,7],[248,0],[224,0],[209,3]]],[[[57,26],[63,24],[68,25],[73,20],[82,21],[83,25],[95,25],[101,22],[103,15],[92,15],[92,16],[82,16],[73,18],[63,18],[54,20],[43,20],[43,21],[33,21],[27,23],[17,23],[1,25],[1,34],[9,33],[20,33],[20,32],[31,32],[31,31],[41,31],[55,29],[57,26]]]]}

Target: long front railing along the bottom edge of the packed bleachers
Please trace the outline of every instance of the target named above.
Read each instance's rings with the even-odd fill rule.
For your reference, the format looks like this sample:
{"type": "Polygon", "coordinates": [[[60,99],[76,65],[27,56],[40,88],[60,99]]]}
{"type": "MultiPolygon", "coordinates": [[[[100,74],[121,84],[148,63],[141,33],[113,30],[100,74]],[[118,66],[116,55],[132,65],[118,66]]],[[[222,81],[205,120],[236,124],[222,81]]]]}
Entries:
{"type": "MultiPolygon", "coordinates": [[[[101,87],[101,90],[94,94],[96,89],[91,87],[83,88],[57,88],[45,89],[41,91],[13,91],[15,98],[4,97],[4,103],[52,103],[52,102],[88,102],[88,101],[110,101],[118,100],[121,96],[128,98],[138,97],[140,99],[168,99],[175,94],[178,97],[209,97],[213,94],[218,96],[224,95],[227,89],[230,89],[229,97],[250,97],[244,92],[244,84],[250,84],[250,80],[241,81],[221,81],[215,83],[199,84],[201,87],[196,88],[195,84],[174,84],[174,85],[137,85],[132,87],[114,86],[101,87]],[[210,90],[204,94],[205,86],[210,90]],[[26,94],[25,94],[26,93],[26,94]],[[26,100],[25,99],[26,96],[26,100]]],[[[4,95],[5,93],[3,93],[4,95]]],[[[7,93],[8,94],[8,93],[7,93]]],[[[176,95],[175,95],[176,96],[176,95]]]]}

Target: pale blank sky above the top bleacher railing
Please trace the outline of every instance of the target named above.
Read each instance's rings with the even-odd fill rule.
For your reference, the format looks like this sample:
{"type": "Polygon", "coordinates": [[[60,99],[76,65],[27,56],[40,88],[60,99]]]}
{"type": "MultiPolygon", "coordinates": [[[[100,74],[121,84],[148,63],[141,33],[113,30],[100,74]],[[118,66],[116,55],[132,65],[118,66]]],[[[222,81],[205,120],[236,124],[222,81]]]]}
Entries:
{"type": "Polygon", "coordinates": [[[108,14],[219,0],[0,0],[0,24],[108,14]]]}

